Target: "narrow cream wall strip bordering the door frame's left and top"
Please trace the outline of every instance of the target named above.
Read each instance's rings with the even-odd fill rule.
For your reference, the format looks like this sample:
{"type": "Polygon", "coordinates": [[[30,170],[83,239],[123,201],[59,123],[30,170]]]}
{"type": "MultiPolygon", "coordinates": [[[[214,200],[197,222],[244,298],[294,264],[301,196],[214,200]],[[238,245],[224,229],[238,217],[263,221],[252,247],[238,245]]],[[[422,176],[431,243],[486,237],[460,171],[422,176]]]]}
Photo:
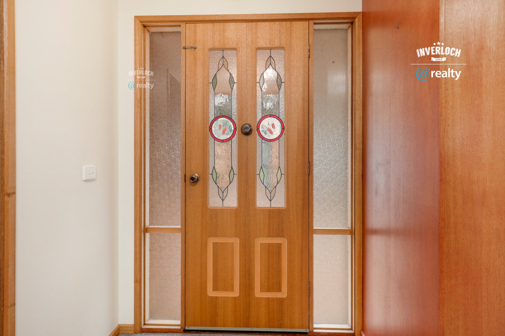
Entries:
{"type": "Polygon", "coordinates": [[[361,0],[119,0],[119,322],[133,323],[133,69],[135,15],[361,12],[361,0]]]}

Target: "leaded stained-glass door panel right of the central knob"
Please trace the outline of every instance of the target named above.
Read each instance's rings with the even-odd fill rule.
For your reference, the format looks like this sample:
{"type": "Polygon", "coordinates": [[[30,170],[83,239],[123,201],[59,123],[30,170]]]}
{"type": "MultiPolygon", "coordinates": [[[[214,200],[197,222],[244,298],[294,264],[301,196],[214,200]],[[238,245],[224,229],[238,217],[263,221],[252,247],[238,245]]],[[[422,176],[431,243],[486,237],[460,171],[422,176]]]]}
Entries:
{"type": "Polygon", "coordinates": [[[256,205],[282,207],[284,191],[284,49],[256,53],[256,205]]]}

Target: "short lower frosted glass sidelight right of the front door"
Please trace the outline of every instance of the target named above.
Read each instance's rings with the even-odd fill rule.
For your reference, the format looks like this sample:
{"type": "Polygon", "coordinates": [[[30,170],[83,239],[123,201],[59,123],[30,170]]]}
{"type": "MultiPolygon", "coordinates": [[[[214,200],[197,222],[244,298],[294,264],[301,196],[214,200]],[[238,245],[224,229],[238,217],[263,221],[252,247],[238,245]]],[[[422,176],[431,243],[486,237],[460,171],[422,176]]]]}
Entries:
{"type": "Polygon", "coordinates": [[[350,236],[314,235],[314,323],[349,324],[350,236]]]}

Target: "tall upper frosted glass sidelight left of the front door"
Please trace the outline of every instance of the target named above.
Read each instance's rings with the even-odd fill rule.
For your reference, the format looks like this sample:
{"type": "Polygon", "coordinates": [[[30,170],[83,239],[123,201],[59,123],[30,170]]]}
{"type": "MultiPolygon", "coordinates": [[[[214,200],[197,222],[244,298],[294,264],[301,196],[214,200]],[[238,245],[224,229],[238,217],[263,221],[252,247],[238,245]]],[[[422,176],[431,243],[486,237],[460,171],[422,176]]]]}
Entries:
{"type": "Polygon", "coordinates": [[[149,225],[180,226],[181,33],[149,33],[149,225]]]}

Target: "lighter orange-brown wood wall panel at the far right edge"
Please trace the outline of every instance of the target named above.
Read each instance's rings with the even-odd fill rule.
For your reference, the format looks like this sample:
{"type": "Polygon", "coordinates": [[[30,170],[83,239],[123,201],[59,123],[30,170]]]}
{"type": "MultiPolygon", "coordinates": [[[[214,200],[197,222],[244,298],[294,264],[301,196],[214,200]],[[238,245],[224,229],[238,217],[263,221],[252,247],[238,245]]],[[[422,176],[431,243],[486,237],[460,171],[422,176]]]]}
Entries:
{"type": "Polygon", "coordinates": [[[440,335],[505,333],[505,2],[440,2],[440,335]]]}

